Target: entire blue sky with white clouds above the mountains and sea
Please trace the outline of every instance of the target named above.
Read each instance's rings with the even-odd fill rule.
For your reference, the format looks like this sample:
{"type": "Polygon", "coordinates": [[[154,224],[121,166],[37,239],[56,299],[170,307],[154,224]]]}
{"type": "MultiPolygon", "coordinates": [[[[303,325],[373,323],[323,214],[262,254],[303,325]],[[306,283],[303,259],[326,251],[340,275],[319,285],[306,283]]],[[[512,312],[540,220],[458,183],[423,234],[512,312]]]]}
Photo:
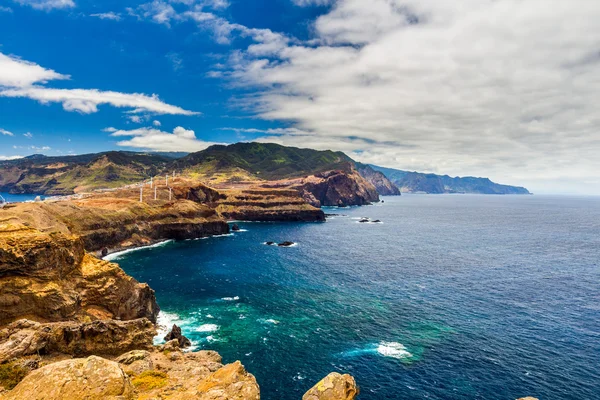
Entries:
{"type": "Polygon", "coordinates": [[[0,159],[275,142],[600,194],[600,2],[0,0],[0,159]]]}

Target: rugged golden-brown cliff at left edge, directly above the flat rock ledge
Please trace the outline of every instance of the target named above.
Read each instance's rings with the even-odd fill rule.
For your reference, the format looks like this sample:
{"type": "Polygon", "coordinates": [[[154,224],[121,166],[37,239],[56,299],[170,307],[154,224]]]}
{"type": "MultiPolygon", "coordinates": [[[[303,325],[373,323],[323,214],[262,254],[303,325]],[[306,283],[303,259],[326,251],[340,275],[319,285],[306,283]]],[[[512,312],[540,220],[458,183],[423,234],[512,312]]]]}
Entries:
{"type": "Polygon", "coordinates": [[[158,312],[148,285],[85,253],[78,237],[0,225],[0,326],[22,318],[155,322],[158,312]]]}

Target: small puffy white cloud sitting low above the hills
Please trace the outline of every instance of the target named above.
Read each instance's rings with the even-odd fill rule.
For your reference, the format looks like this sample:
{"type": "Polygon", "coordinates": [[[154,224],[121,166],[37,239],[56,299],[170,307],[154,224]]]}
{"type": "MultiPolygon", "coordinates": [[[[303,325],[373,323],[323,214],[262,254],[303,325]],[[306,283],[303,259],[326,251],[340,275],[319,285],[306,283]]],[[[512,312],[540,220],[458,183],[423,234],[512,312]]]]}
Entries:
{"type": "Polygon", "coordinates": [[[128,140],[117,142],[119,146],[153,151],[200,151],[215,144],[197,139],[194,131],[180,126],[172,133],[151,127],[132,130],[106,128],[104,131],[112,132],[111,136],[114,137],[130,137],[128,140]]]}

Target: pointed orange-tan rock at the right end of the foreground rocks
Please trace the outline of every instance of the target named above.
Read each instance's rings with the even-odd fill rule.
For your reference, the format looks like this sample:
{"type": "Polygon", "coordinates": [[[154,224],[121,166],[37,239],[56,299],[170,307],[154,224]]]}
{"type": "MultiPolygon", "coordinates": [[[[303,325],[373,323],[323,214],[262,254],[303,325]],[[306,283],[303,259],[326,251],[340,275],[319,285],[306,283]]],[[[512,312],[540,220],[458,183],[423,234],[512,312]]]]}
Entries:
{"type": "Polygon", "coordinates": [[[204,379],[198,386],[200,400],[259,400],[256,379],[236,361],[225,365],[204,379]]]}

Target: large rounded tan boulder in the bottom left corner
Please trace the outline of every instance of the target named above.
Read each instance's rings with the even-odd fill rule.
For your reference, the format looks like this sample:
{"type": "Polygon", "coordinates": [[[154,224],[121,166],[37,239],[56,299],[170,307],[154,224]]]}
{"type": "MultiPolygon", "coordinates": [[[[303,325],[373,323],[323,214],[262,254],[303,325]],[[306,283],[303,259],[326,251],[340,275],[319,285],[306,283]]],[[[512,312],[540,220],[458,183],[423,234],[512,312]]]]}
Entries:
{"type": "Polygon", "coordinates": [[[119,364],[100,357],[60,361],[31,372],[3,400],[129,400],[134,390],[119,364]]]}

